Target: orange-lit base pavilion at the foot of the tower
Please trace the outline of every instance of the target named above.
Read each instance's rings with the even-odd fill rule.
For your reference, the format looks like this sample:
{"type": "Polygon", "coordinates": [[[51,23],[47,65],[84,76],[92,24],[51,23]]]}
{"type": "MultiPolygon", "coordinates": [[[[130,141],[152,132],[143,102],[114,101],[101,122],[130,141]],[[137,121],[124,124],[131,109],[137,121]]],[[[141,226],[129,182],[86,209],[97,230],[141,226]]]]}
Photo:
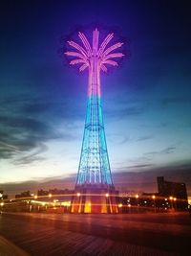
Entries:
{"type": "Polygon", "coordinates": [[[103,184],[76,185],[72,198],[72,213],[118,213],[118,192],[103,184]]]}

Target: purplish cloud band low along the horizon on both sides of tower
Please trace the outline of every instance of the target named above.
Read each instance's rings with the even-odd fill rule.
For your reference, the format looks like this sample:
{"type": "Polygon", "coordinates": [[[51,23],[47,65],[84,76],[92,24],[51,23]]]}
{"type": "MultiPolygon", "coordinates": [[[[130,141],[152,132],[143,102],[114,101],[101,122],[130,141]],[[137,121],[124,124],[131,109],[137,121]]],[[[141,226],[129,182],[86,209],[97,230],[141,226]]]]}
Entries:
{"type": "MultiPolygon", "coordinates": [[[[126,193],[127,195],[141,195],[142,193],[158,193],[157,177],[163,176],[165,180],[171,182],[185,183],[188,201],[191,200],[191,175],[190,166],[187,168],[160,168],[158,170],[147,170],[137,172],[113,172],[113,179],[116,189],[119,193],[126,193]]],[[[10,199],[15,195],[21,194],[25,191],[30,191],[31,194],[36,195],[38,190],[74,190],[76,182],[76,174],[68,176],[50,176],[41,179],[26,180],[23,182],[8,182],[0,183],[1,189],[5,194],[8,194],[10,199]]]]}

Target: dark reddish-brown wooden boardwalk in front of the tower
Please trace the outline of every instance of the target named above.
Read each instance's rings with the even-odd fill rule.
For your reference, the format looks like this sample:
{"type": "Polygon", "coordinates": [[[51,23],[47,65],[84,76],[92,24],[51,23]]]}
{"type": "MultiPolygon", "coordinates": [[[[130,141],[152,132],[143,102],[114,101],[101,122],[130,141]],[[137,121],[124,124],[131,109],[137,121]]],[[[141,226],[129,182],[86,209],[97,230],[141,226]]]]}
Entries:
{"type": "Polygon", "coordinates": [[[32,256],[191,255],[188,214],[3,213],[0,235],[32,256]]]}

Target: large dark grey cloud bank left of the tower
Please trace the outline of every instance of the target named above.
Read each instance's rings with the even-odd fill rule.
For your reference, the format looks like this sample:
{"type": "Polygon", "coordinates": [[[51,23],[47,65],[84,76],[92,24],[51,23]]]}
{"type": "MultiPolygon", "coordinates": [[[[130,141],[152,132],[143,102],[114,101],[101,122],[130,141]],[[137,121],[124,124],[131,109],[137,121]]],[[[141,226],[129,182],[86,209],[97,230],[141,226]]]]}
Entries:
{"type": "MultiPolygon", "coordinates": [[[[4,102],[6,110],[0,115],[0,159],[13,158],[33,150],[39,154],[39,145],[44,145],[49,140],[71,141],[75,139],[73,128],[63,127],[62,130],[58,130],[55,113],[52,113],[53,117],[55,116],[54,119],[51,116],[45,117],[45,112],[48,114],[51,112],[51,105],[50,107],[39,103],[32,105],[32,100],[29,99],[28,104],[25,100],[21,101],[22,104],[15,104],[12,99],[4,102]]],[[[21,157],[17,163],[31,163],[40,159],[42,158],[37,155],[31,155],[28,158],[23,156],[23,161],[21,157]]]]}

